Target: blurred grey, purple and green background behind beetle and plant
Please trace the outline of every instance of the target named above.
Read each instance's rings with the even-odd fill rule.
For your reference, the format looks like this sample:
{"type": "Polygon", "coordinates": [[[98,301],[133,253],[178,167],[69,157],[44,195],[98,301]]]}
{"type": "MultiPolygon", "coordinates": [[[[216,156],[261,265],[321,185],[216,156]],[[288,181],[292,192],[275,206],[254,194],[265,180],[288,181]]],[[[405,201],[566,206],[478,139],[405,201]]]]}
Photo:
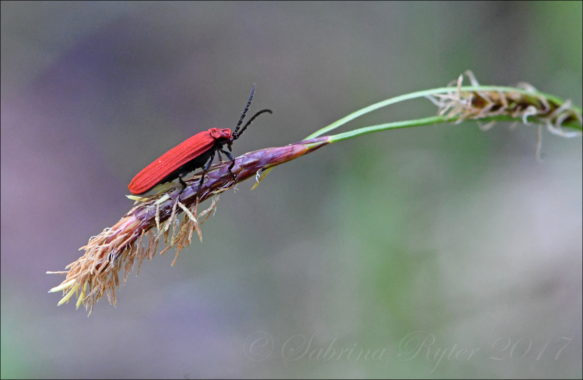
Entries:
{"type": "Polygon", "coordinates": [[[235,155],[466,69],[581,106],[582,2],[1,4],[2,378],[581,378],[581,138],[545,133],[540,164],[532,126],[369,134],[279,166],[90,318],[45,271],[131,208],[153,159],[232,128],[253,83],[251,111],[274,113],[235,155]]]}

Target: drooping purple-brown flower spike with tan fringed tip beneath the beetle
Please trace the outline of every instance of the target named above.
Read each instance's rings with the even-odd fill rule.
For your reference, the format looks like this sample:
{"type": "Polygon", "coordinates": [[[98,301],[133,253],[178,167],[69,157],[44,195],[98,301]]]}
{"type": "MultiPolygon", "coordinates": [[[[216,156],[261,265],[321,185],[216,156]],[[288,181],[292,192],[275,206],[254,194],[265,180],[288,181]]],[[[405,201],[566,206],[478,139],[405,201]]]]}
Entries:
{"type": "Polygon", "coordinates": [[[182,248],[188,247],[196,230],[202,240],[200,225],[206,221],[210,212],[216,208],[219,194],[238,182],[250,177],[260,180],[260,173],[273,166],[283,164],[328,144],[328,137],[319,137],[285,147],[267,148],[250,152],[235,159],[232,171],[236,180],[229,173],[229,162],[214,165],[205,177],[205,182],[196,197],[196,187],[200,175],[186,181],[188,187],[180,193],[182,187],[174,186],[149,197],[131,197],[141,204],[132,208],[111,228],[106,228],[80,250],[85,254],[79,260],[67,265],[68,271],[47,272],[66,274],[61,285],[49,292],[64,292],[59,305],[67,302],[73,294],[77,296],[76,307],[85,304],[89,314],[97,300],[107,295],[110,303],[115,305],[115,288],[120,287],[119,272],[124,268],[124,282],[138,262],[138,270],[146,257],[151,260],[156,248],[163,239],[166,246],[160,254],[171,247],[176,248],[174,265],[182,248]],[[198,213],[198,204],[215,196],[210,207],[198,213]],[[179,215],[184,214],[180,220],[179,215]],[[203,218],[201,220],[201,218],[203,218]],[[155,230],[155,232],[154,232],[155,230]],[[170,231],[171,230],[171,231],[170,231]]]}

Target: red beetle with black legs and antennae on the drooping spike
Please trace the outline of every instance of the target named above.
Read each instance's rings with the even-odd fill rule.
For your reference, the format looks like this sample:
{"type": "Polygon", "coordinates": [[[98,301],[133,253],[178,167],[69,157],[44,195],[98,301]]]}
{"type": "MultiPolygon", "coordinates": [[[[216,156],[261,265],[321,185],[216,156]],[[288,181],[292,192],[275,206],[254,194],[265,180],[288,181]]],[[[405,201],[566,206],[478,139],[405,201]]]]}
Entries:
{"type": "Polygon", "coordinates": [[[229,152],[223,150],[223,145],[227,144],[227,148],[231,151],[231,144],[233,144],[233,141],[241,136],[244,130],[247,129],[257,116],[264,112],[273,113],[271,109],[262,109],[255,113],[255,115],[245,123],[243,128],[241,128],[241,131],[239,131],[239,127],[245,118],[245,113],[247,113],[249,106],[251,105],[254,93],[255,86],[251,89],[249,101],[241,115],[241,119],[239,119],[239,122],[237,123],[234,133],[231,133],[231,130],[228,128],[211,128],[207,131],[195,134],[188,140],[184,141],[184,143],[181,143],[177,147],[174,147],[161,155],[159,159],[152,162],[152,164],[146,166],[146,168],[136,174],[134,179],[132,179],[132,182],[128,185],[129,191],[131,191],[132,194],[142,194],[152,189],[152,187],[157,184],[171,182],[177,178],[182,184],[182,190],[184,190],[187,185],[182,180],[182,177],[196,169],[202,169],[203,172],[201,180],[199,181],[200,189],[200,185],[205,179],[205,173],[209,170],[210,165],[215,158],[215,152],[219,154],[219,159],[221,158],[220,152],[223,152],[231,160],[229,173],[231,173],[231,176],[235,179],[234,173],[231,172],[233,165],[235,165],[235,160],[229,152]]]}

